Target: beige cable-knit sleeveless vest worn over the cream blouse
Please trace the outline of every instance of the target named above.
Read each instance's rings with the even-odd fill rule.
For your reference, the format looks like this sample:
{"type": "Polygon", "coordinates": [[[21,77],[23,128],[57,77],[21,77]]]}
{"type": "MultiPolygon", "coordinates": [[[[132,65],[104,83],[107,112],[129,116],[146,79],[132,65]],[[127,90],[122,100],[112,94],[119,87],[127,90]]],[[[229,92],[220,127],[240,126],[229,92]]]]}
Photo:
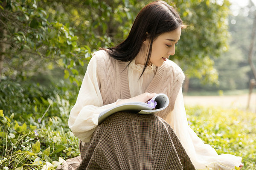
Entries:
{"type": "MultiPolygon", "coordinates": [[[[116,102],[117,99],[131,98],[127,63],[110,57],[106,51],[96,51],[93,57],[97,59],[97,76],[99,89],[102,95],[103,105],[116,102]]],[[[157,72],[148,85],[145,92],[163,93],[169,97],[169,106],[157,113],[157,116],[165,119],[166,115],[173,110],[175,100],[185,76],[174,62],[167,60],[157,68],[157,72]]]]}

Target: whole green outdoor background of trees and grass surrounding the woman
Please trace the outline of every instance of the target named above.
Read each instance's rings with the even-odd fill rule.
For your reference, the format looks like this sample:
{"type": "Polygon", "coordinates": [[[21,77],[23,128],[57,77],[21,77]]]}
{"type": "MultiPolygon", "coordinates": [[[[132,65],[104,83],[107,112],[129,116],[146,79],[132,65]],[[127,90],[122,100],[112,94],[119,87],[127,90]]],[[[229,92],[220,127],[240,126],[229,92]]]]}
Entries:
{"type": "MultiPolygon", "coordinates": [[[[0,0],[0,169],[79,155],[67,120],[90,57],[124,40],[150,2],[0,0]]],[[[188,26],[169,59],[186,75],[189,124],[255,169],[256,0],[166,2],[188,26]]]]}

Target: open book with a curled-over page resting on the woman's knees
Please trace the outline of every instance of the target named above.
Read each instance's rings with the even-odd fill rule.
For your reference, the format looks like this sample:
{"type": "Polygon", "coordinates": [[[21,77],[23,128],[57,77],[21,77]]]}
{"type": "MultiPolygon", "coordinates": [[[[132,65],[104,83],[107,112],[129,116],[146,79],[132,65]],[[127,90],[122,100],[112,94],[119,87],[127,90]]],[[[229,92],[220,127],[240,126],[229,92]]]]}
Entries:
{"type": "Polygon", "coordinates": [[[111,114],[119,111],[129,111],[131,113],[139,114],[152,114],[162,111],[169,105],[169,99],[166,94],[156,94],[151,100],[157,102],[157,105],[154,109],[152,109],[147,103],[144,102],[128,102],[122,105],[116,105],[113,108],[109,108],[99,113],[99,124],[111,114]]]}

